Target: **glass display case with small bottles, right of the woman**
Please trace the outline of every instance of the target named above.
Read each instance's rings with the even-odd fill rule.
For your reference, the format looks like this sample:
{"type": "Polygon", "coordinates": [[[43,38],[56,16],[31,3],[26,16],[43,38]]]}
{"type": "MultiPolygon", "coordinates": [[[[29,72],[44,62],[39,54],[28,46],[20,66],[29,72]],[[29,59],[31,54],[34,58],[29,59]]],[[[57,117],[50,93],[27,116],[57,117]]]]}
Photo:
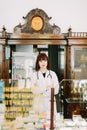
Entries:
{"type": "Polygon", "coordinates": [[[61,111],[65,118],[74,114],[87,118],[87,80],[63,79],[60,82],[61,111]]]}

